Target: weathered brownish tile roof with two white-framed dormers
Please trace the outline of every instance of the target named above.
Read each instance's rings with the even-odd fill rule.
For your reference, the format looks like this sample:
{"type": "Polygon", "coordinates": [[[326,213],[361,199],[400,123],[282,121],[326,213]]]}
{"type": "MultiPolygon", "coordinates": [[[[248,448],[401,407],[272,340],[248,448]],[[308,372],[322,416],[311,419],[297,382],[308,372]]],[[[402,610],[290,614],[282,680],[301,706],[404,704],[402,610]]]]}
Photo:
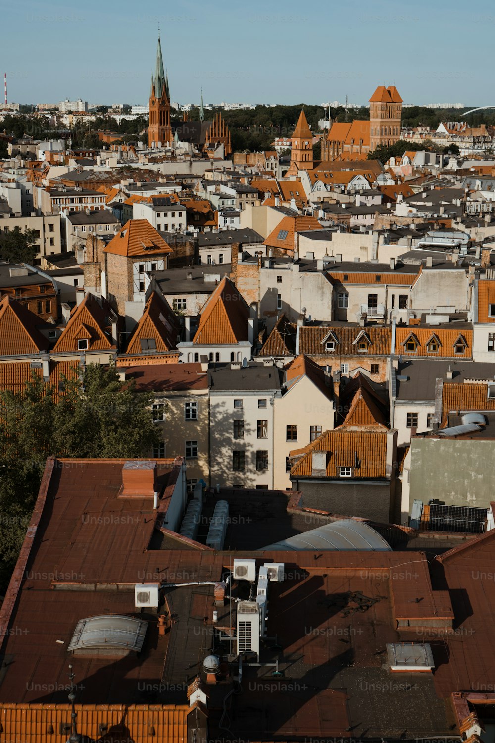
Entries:
{"type": "Polygon", "coordinates": [[[304,325],[299,328],[299,350],[302,354],[309,356],[325,356],[331,358],[337,354],[341,356],[362,356],[358,353],[355,341],[363,329],[370,338],[368,356],[387,356],[390,354],[390,342],[392,331],[390,327],[381,325],[370,325],[367,328],[347,325],[327,325],[312,327],[304,325]],[[329,340],[335,340],[335,351],[325,351],[325,339],[332,334],[329,340]]]}

